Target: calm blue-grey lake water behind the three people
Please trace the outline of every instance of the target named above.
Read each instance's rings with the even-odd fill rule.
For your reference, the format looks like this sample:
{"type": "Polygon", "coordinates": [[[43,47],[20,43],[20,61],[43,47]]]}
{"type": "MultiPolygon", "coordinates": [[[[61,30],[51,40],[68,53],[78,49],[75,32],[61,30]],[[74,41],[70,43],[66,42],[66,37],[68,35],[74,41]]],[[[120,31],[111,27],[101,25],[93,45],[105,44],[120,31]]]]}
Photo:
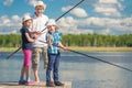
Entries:
{"type": "MultiPolygon", "coordinates": [[[[82,53],[132,69],[132,53],[82,53]]],[[[0,81],[18,81],[20,77],[23,54],[16,53],[6,59],[9,54],[0,53],[0,81]]],[[[45,81],[43,59],[38,74],[45,81]]],[[[73,88],[132,88],[132,72],[70,52],[62,53],[59,76],[62,81],[72,81],[73,88]]],[[[31,78],[34,79],[33,74],[31,78]]]]}

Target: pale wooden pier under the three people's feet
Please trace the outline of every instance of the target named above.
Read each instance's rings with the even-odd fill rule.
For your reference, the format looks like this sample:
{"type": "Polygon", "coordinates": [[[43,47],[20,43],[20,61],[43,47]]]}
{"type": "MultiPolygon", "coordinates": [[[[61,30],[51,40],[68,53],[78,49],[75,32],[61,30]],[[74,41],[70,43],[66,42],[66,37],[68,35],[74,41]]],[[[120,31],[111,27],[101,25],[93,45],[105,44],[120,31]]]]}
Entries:
{"type": "Polygon", "coordinates": [[[40,82],[36,85],[19,85],[16,81],[7,81],[7,82],[0,82],[0,88],[72,88],[70,81],[63,81],[65,86],[55,86],[55,87],[46,87],[46,82],[40,82]]]}

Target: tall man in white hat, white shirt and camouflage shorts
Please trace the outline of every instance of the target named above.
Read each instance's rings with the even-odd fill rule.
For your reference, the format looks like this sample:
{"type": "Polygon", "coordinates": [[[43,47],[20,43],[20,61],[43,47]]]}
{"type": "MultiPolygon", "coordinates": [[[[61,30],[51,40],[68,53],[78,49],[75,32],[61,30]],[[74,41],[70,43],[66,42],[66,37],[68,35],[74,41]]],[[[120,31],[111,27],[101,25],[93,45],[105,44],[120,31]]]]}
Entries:
{"type": "MultiPolygon", "coordinates": [[[[43,43],[46,42],[46,23],[48,21],[48,18],[43,14],[46,4],[43,1],[37,1],[34,4],[35,13],[32,16],[33,19],[33,25],[31,26],[32,32],[37,32],[37,38],[33,43],[33,51],[32,51],[32,68],[35,77],[35,81],[40,82],[38,77],[38,64],[40,64],[40,56],[42,54],[44,58],[44,68],[47,68],[47,44],[43,43]],[[43,41],[43,42],[40,42],[43,41]]],[[[35,35],[34,35],[35,36],[35,35]]]]}

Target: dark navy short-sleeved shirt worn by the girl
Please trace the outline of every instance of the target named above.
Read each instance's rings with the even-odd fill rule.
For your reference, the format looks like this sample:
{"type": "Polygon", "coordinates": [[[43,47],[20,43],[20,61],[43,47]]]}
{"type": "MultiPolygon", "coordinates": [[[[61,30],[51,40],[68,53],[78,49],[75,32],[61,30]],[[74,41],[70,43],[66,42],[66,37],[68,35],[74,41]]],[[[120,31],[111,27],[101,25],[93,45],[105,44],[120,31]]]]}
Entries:
{"type": "Polygon", "coordinates": [[[28,33],[30,35],[30,37],[32,37],[30,31],[28,28],[23,26],[21,30],[22,33],[22,48],[23,50],[31,50],[32,48],[32,43],[28,41],[25,33],[28,33]]]}

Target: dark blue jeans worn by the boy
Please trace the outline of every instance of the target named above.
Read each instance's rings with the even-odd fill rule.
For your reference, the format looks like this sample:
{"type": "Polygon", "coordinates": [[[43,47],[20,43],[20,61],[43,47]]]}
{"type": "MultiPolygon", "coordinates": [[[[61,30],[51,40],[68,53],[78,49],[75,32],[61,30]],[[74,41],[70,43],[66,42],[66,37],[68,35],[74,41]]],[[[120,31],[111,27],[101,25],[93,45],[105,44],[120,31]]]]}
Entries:
{"type": "Polygon", "coordinates": [[[46,69],[46,82],[51,82],[51,72],[53,70],[54,81],[58,81],[61,53],[48,54],[48,65],[46,69]]]}

